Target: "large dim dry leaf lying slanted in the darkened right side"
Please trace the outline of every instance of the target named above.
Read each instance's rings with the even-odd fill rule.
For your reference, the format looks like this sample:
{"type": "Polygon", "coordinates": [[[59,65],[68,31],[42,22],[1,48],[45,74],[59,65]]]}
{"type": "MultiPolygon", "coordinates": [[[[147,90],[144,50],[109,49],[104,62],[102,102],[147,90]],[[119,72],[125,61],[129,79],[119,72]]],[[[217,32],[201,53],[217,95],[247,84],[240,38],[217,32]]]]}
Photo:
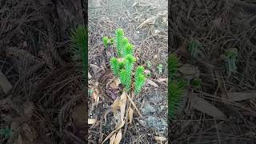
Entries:
{"type": "Polygon", "coordinates": [[[194,107],[194,109],[208,114],[214,118],[226,119],[226,115],[223,114],[221,110],[207,102],[205,99],[199,98],[196,95],[194,95],[191,99],[191,105],[194,107]]]}

